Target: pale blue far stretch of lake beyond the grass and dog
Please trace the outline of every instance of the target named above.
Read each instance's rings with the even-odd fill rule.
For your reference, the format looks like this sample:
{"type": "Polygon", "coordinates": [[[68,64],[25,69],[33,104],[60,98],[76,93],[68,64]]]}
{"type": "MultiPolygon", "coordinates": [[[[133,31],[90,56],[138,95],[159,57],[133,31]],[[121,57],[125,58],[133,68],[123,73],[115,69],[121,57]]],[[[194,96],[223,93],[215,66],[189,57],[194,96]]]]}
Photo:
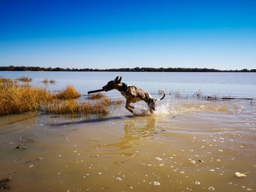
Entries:
{"type": "MultiPolygon", "coordinates": [[[[1,77],[32,77],[34,84],[42,85],[45,78],[53,79],[50,90],[73,85],[79,92],[102,88],[108,81],[122,76],[122,82],[155,93],[159,88],[166,92],[184,94],[200,91],[204,95],[256,97],[256,73],[241,72],[0,72],[1,77]]],[[[114,95],[118,92],[108,93],[114,95]]]]}

